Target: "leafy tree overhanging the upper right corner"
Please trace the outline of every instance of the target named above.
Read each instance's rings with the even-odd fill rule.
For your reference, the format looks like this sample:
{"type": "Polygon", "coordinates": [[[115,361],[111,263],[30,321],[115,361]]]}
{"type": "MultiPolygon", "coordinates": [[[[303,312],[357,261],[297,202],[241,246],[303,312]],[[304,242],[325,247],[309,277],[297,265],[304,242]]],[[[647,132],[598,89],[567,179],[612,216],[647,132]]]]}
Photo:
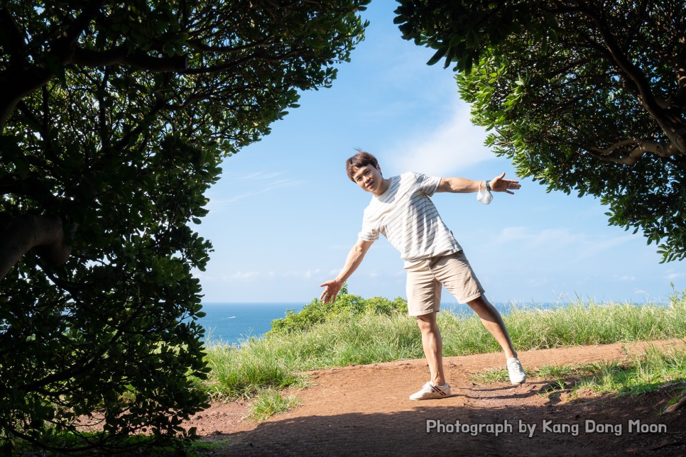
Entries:
{"type": "Polygon", "coordinates": [[[455,62],[472,121],[518,175],[592,194],[686,258],[683,0],[399,0],[403,37],[455,62]]]}

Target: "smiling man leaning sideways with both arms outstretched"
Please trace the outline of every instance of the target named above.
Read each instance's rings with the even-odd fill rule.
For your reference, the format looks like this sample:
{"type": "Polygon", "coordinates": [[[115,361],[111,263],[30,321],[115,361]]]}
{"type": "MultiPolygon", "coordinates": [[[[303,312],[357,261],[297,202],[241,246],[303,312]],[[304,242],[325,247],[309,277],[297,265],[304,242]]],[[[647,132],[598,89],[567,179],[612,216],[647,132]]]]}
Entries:
{"type": "Polygon", "coordinates": [[[489,203],[491,190],[513,194],[513,190],[521,187],[518,181],[503,179],[505,173],[485,182],[459,177],[429,177],[415,172],[384,178],[374,155],[364,152],[349,158],[346,170],[353,182],[374,197],[364,210],[362,231],[343,269],[337,277],[321,285],[326,288],[320,299],[325,303],[336,300],[343,283],[359,267],[367,250],[381,233],[405,260],[408,312],[417,319],[431,373],[431,380],[410,395],[410,400],[451,395],[450,385],[443,375],[442,339],[436,324],[441,285],[445,285],[459,302],[474,309],[481,323],[496,338],[505,352],[510,381],[513,384],[524,382],[526,375],[503,319],[484,296],[484,289],[462,248],[429,198],[434,192],[479,192],[479,201],[489,203]]]}

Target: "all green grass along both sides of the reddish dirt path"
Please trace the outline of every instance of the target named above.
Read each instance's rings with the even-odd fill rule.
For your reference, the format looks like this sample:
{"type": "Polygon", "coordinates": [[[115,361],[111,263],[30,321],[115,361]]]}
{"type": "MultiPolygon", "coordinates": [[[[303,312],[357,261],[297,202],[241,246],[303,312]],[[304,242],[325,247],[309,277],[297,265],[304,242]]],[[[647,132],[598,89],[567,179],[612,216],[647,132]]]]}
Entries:
{"type": "MultiPolygon", "coordinates": [[[[575,302],[550,310],[515,309],[503,320],[520,351],[685,338],[686,292],[673,294],[670,301],[668,307],[575,302]]],[[[441,313],[438,321],[446,356],[500,351],[477,316],[441,313]]],[[[196,383],[214,400],[250,399],[249,419],[261,421],[298,406],[298,398],[284,396],[283,391],[308,385],[307,377],[300,374],[302,371],[412,358],[423,358],[423,351],[418,327],[405,314],[334,316],[307,330],[251,338],[240,347],[210,343],[207,361],[212,370],[207,380],[197,379],[196,383]]],[[[680,395],[671,402],[674,403],[686,394],[686,351],[661,353],[650,348],[624,363],[550,365],[530,370],[528,375],[552,380],[552,395],[555,391],[573,392],[583,387],[638,395],[657,390],[665,383],[682,385],[680,395]]],[[[508,376],[506,370],[487,370],[474,375],[474,380],[507,382],[508,376]]],[[[72,439],[68,434],[61,438],[72,439]]],[[[204,455],[224,446],[221,442],[172,441],[169,447],[159,447],[148,443],[151,437],[131,439],[134,441],[125,444],[145,448],[151,456],[204,455]]]]}

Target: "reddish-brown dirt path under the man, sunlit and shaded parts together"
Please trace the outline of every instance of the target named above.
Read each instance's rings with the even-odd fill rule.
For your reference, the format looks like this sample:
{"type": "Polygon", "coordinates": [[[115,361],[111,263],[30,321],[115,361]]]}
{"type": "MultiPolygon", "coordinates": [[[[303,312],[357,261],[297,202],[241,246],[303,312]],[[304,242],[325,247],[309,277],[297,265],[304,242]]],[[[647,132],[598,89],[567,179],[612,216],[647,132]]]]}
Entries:
{"type": "MultiPolygon", "coordinates": [[[[648,344],[684,343],[522,351],[519,357],[526,370],[624,360],[648,344]]],[[[246,404],[234,402],[212,404],[185,425],[214,442],[207,451],[214,456],[686,456],[686,408],[661,414],[684,379],[637,397],[584,391],[572,398],[570,390],[546,391],[552,379],[517,386],[469,380],[470,373],[503,367],[501,354],[448,357],[444,364],[453,395],[441,400],[408,400],[428,379],[428,367],[405,360],[310,372],[314,385],[297,392],[302,406],[266,422],[243,419],[246,404]],[[440,432],[427,431],[439,421],[440,432]]]]}

